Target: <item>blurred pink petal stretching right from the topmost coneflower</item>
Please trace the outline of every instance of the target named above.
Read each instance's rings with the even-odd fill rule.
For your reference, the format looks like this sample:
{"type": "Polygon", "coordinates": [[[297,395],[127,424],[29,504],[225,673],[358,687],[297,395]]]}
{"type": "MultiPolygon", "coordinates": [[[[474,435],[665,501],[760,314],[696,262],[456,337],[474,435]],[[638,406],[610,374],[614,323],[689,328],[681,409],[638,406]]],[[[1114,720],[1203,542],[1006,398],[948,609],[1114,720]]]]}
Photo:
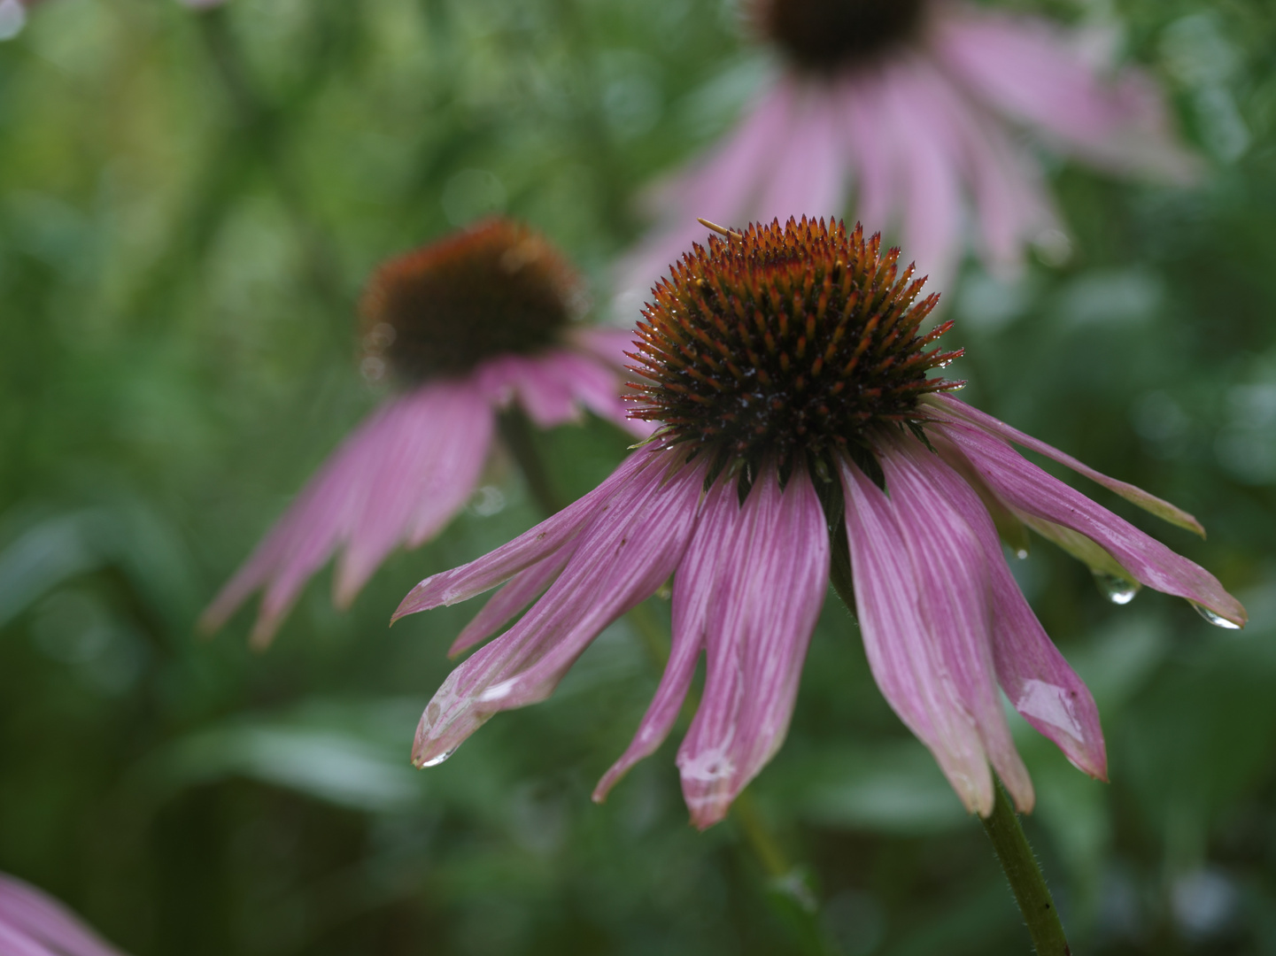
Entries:
{"type": "Polygon", "coordinates": [[[1175,143],[1155,84],[1133,69],[1101,80],[1054,24],[963,9],[937,18],[933,36],[954,77],[1083,158],[1179,183],[1199,174],[1199,161],[1175,143]]]}

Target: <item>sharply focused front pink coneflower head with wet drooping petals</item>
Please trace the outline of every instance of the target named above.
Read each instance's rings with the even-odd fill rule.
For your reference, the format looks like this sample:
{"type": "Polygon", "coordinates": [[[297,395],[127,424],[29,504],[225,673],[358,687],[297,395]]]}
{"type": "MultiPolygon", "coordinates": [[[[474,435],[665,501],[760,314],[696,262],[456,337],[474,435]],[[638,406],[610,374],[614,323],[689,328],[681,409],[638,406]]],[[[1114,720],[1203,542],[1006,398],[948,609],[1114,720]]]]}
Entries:
{"type": "Polygon", "coordinates": [[[1208,572],[1011,444],[1199,531],[1189,514],[928,377],[958,352],[934,346],[951,323],[919,332],[938,296],[919,301],[924,280],[912,267],[897,274],[897,255],[879,255],[859,227],[790,220],[711,236],[683,257],[656,287],[633,355],[643,378],[633,414],[661,422],[652,439],[549,521],[422,581],[396,613],[508,581],[462,650],[540,596],[444,682],[417,729],[416,763],[444,759],[496,711],[544,699],[602,628],[672,576],[669,664],[595,799],[669,734],[703,652],[703,697],[678,766],[693,822],[709,826],[785,736],[832,568],[840,590],[854,590],[878,685],[970,809],[991,812],[989,765],[1021,809],[1034,800],[998,687],[1074,765],[1105,777],[1094,699],[1016,586],[997,525],[1027,525],[1096,572],[1185,597],[1215,623],[1239,627],[1244,609],[1208,572]]]}

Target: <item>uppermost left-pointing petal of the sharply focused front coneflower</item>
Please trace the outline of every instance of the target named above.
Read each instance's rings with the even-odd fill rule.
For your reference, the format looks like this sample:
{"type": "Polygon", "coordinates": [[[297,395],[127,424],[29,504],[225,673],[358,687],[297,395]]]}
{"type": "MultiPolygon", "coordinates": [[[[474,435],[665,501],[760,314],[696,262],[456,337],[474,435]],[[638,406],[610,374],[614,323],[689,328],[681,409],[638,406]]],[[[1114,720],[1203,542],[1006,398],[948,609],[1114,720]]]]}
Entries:
{"type": "Polygon", "coordinates": [[[667,457],[669,452],[656,447],[634,452],[606,481],[558,514],[550,516],[482,558],[427,577],[408,592],[390,622],[406,614],[468,600],[508,581],[523,568],[551,556],[572,541],[595,514],[605,509],[618,491],[635,481],[644,485],[658,482],[664,477],[664,468],[660,466],[666,463],[667,457]]]}

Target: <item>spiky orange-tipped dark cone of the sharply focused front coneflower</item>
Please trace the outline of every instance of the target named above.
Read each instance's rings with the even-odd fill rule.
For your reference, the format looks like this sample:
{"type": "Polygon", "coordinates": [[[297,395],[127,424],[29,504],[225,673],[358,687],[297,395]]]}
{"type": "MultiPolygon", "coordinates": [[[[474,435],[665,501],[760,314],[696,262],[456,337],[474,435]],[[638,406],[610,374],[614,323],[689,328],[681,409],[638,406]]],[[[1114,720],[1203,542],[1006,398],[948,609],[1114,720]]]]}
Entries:
{"type": "Polygon", "coordinates": [[[919,301],[925,278],[901,273],[898,257],[841,221],[711,235],[643,310],[632,357],[646,382],[632,415],[718,463],[775,456],[782,467],[866,447],[875,425],[919,421],[921,396],[961,384],[928,373],[961,351],[931,347],[951,322],[919,331],[939,296],[919,301]]]}

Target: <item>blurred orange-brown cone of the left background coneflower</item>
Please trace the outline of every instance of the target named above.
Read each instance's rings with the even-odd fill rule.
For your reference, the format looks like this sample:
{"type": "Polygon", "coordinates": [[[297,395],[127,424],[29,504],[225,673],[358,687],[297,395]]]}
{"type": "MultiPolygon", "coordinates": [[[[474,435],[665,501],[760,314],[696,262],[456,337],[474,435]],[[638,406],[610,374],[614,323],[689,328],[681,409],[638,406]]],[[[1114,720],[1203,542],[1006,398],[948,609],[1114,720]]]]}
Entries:
{"type": "Polygon", "coordinates": [[[579,281],[538,232],[487,220],[390,259],[364,292],[364,371],[419,382],[558,342],[579,281]]]}

